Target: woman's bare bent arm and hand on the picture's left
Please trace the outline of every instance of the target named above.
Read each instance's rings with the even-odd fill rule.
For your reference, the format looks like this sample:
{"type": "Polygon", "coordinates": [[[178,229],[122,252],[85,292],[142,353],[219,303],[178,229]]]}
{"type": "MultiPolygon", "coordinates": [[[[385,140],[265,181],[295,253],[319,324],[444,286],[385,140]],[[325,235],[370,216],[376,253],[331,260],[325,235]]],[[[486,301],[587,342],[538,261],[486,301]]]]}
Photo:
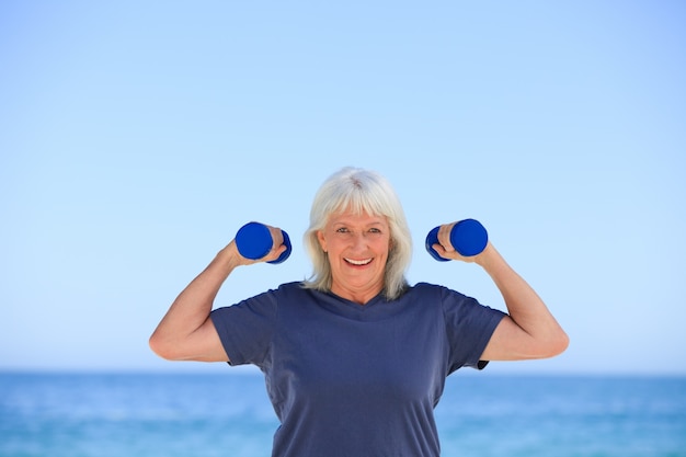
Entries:
{"type": "Polygon", "coordinates": [[[219,288],[240,265],[278,259],[286,250],[279,229],[270,227],[274,245],[260,260],[243,258],[231,241],[174,300],[150,336],[150,349],[169,361],[229,362],[209,313],[219,288]]]}

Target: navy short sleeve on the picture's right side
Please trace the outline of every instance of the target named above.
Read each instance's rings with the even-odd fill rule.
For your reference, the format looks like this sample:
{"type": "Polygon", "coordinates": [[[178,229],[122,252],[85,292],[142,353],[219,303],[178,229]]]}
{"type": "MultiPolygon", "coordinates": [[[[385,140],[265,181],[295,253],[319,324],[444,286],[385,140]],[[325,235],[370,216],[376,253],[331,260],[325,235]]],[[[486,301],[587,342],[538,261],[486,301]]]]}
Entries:
{"type": "Polygon", "coordinates": [[[481,354],[506,315],[445,287],[442,302],[450,345],[448,373],[462,366],[483,369],[488,362],[480,361],[481,354]]]}

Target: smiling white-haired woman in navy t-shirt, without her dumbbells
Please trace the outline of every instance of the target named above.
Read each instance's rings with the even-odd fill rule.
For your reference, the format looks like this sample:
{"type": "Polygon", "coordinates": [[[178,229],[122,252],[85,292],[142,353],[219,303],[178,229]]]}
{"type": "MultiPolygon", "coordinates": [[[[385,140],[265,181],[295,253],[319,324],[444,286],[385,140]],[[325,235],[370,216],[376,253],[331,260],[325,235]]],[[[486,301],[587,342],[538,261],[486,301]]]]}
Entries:
{"type": "MultiPolygon", "coordinates": [[[[213,311],[229,274],[256,261],[224,248],[176,298],[150,338],[169,359],[254,364],[281,421],[273,456],[438,456],[434,408],[446,377],[488,361],[554,356],[568,338],[531,287],[489,243],[462,258],[454,224],[434,249],[475,262],[507,313],[449,288],[409,285],[411,238],[400,202],[377,173],[345,168],[315,197],[306,282],[213,311]]],[[[286,249],[270,228],[277,259],[286,249]]]]}

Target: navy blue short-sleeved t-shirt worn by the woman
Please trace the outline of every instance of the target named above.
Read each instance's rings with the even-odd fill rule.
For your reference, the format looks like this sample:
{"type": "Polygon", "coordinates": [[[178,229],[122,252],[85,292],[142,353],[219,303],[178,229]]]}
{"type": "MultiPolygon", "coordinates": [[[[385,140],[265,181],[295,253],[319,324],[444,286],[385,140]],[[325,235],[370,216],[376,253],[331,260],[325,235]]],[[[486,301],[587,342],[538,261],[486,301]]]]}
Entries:
{"type": "Polygon", "coordinates": [[[289,283],[210,316],[231,365],[264,373],[273,456],[433,457],[445,378],[480,367],[504,313],[425,283],[364,306],[289,283]]]}

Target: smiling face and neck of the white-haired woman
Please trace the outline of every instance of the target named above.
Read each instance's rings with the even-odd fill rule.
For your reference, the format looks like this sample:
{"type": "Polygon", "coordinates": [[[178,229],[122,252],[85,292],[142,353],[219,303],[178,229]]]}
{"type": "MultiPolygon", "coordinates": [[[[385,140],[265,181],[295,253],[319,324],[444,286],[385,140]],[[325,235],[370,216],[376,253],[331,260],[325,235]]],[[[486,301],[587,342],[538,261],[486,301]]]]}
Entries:
{"type": "Polygon", "coordinates": [[[332,293],[364,305],[384,289],[390,249],[386,217],[334,214],[317,237],[331,264],[332,293]]]}

